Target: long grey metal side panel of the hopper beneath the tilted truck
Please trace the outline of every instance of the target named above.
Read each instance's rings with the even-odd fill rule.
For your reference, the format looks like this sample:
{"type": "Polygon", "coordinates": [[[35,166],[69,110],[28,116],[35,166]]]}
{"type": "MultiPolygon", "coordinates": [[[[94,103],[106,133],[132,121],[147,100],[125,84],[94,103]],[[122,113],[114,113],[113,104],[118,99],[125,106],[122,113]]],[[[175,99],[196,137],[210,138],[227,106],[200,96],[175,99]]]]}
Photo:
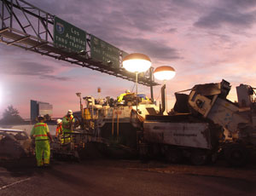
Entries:
{"type": "Polygon", "coordinates": [[[144,138],[181,147],[211,149],[211,135],[207,123],[144,122],[144,138]]]}

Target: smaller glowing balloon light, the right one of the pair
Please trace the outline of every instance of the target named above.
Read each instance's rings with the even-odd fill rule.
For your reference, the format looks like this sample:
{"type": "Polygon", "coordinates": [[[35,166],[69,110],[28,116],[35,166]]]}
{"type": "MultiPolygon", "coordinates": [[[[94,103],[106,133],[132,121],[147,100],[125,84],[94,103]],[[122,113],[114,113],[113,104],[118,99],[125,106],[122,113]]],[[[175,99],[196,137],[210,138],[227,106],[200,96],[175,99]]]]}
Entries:
{"type": "Polygon", "coordinates": [[[154,77],[159,80],[169,80],[175,76],[176,72],[172,66],[159,66],[154,70],[154,77]]]}

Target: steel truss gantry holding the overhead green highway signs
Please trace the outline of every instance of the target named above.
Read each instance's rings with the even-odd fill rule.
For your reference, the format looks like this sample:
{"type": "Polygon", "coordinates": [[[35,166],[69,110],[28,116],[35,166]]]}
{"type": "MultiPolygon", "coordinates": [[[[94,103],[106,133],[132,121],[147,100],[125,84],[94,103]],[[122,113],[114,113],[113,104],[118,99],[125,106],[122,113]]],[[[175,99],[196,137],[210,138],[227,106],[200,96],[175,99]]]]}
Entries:
{"type": "MultiPolygon", "coordinates": [[[[55,15],[38,9],[23,0],[0,0],[0,6],[0,42],[135,81],[135,74],[127,72],[121,67],[121,54],[119,67],[106,66],[102,62],[90,58],[90,34],[86,35],[86,51],[68,52],[54,44],[52,33],[55,15]]],[[[153,67],[150,68],[147,78],[138,78],[138,83],[150,86],[151,91],[154,85],[158,85],[154,82],[153,69],[153,67]]]]}

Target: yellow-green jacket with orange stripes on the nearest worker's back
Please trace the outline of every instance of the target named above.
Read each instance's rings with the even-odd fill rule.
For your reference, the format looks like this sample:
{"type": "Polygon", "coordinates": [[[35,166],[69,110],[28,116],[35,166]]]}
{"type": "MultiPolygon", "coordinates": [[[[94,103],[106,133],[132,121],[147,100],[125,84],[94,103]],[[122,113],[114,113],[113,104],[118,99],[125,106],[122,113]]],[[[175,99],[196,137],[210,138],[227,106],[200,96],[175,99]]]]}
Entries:
{"type": "Polygon", "coordinates": [[[30,135],[34,136],[36,141],[40,141],[49,139],[47,133],[49,133],[48,125],[44,123],[37,123],[33,126],[30,135]]]}

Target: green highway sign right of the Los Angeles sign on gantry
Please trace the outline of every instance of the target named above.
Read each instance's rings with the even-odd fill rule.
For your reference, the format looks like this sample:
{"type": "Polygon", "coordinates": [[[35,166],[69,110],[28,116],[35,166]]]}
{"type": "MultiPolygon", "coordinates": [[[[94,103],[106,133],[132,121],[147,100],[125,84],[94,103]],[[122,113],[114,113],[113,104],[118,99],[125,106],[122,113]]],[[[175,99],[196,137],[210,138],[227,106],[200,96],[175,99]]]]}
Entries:
{"type": "Polygon", "coordinates": [[[90,57],[105,65],[119,67],[120,50],[102,39],[90,36],[90,57]]]}

